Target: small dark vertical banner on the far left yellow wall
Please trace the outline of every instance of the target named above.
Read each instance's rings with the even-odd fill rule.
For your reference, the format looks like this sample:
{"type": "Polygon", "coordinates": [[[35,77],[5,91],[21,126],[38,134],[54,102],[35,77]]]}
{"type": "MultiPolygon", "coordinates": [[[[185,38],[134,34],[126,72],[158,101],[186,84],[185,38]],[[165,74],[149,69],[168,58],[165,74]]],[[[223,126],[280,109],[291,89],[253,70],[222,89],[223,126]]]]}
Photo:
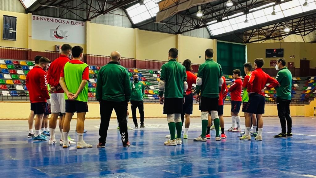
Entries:
{"type": "Polygon", "coordinates": [[[16,41],[16,17],[3,16],[3,40],[16,41]]]}

